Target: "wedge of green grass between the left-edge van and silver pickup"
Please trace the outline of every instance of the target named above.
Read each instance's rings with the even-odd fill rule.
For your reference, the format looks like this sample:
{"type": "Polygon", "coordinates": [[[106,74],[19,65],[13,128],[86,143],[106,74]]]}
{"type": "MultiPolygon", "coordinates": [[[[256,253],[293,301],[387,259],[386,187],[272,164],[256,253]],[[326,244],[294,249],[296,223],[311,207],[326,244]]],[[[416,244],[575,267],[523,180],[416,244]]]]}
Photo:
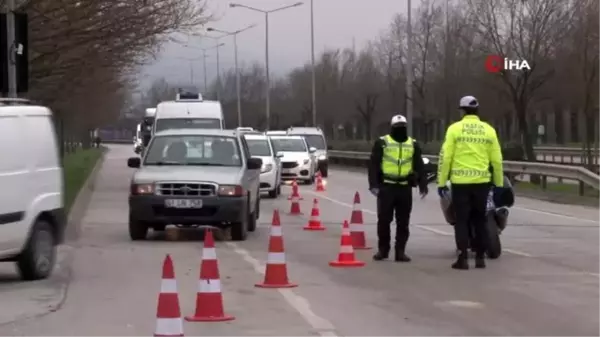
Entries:
{"type": "Polygon", "coordinates": [[[78,150],[65,156],[63,173],[65,179],[65,211],[69,214],[77,193],[102,156],[103,148],[78,150]]]}

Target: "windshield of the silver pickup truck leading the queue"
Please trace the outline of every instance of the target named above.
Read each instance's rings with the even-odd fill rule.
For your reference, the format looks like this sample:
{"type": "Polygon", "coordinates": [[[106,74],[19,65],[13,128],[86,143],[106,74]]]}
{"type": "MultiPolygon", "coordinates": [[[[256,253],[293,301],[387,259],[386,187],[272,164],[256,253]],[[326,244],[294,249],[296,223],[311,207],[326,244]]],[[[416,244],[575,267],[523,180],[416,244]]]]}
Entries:
{"type": "Polygon", "coordinates": [[[242,160],[233,137],[157,136],[144,165],[242,166],[242,160]]]}

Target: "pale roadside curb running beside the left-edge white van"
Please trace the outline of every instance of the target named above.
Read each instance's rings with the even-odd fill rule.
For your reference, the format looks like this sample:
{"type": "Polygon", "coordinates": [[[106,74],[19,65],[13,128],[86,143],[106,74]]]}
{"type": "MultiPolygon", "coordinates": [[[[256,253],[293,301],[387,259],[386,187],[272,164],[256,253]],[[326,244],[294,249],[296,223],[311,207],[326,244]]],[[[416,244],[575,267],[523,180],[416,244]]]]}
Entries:
{"type": "Polygon", "coordinates": [[[11,321],[0,322],[0,326],[6,326],[10,324],[19,323],[29,319],[40,318],[50,313],[56,312],[61,309],[63,304],[66,302],[69,292],[69,286],[72,279],[72,263],[75,255],[75,242],[79,238],[80,226],[85,212],[91,200],[92,192],[95,189],[96,179],[98,173],[104,164],[106,155],[106,148],[102,149],[102,154],[98,158],[94,168],[86,178],[85,182],[81,186],[81,189],[77,193],[77,196],[69,210],[67,216],[67,228],[65,233],[65,242],[58,247],[56,256],[56,266],[54,275],[52,276],[52,283],[56,284],[55,288],[55,299],[44,306],[43,309],[38,312],[33,312],[28,315],[18,316],[11,321]]]}

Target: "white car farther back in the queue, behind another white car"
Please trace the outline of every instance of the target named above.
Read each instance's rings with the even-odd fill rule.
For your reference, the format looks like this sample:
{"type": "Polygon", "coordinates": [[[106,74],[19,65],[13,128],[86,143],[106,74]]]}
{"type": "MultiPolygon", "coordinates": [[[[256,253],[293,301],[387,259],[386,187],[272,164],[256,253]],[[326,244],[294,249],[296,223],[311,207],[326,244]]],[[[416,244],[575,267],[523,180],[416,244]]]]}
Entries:
{"type": "Polygon", "coordinates": [[[302,136],[270,136],[275,153],[281,154],[281,177],[307,184],[315,181],[317,158],[314,147],[308,147],[302,136]]]}

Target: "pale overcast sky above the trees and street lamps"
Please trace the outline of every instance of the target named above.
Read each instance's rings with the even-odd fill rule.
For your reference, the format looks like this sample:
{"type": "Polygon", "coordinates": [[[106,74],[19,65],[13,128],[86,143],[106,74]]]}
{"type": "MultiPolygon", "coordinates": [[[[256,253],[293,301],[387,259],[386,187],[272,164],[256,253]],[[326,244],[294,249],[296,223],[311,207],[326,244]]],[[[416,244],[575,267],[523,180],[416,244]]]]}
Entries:
{"type": "MultiPolygon", "coordinates": [[[[270,10],[295,3],[296,0],[239,0],[238,3],[270,10]]],[[[269,15],[269,57],[273,74],[282,74],[310,60],[310,0],[304,5],[269,15]]],[[[413,8],[419,1],[413,1],[413,8]]],[[[244,8],[229,8],[230,1],[208,0],[209,9],[219,20],[210,27],[235,31],[251,24],[257,26],[238,35],[239,60],[241,63],[265,59],[265,16],[244,8]]],[[[375,38],[387,29],[396,13],[404,13],[406,0],[315,0],[315,54],[327,48],[356,48],[375,38]]],[[[218,36],[215,34],[215,36],[218,36]]],[[[222,39],[220,48],[221,69],[234,66],[233,39],[222,39]]],[[[190,38],[189,45],[207,48],[214,40],[190,38]]],[[[153,64],[145,67],[140,76],[142,85],[164,77],[170,82],[190,83],[190,62],[193,61],[193,82],[203,85],[202,51],[180,44],[164,46],[164,51],[153,64]]],[[[208,52],[207,74],[216,75],[215,50],[208,52]]]]}

